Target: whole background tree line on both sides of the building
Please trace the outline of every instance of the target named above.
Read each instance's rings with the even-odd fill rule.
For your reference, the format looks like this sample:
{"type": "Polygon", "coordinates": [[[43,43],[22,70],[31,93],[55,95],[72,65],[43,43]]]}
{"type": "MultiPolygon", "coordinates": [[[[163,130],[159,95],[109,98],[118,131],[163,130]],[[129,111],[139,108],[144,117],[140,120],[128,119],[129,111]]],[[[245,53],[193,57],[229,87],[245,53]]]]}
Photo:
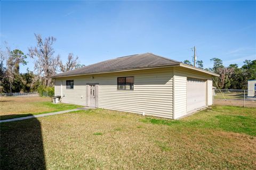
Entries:
{"type": "MultiPolygon", "coordinates": [[[[20,49],[10,49],[7,45],[1,48],[0,53],[0,93],[3,92],[30,92],[45,89],[52,93],[54,82],[51,75],[58,72],[83,67],[78,63],[78,56],[69,53],[67,62],[60,60],[60,55],[55,55],[53,44],[57,40],[54,37],[42,38],[35,34],[34,47],[28,48],[28,54],[20,49]],[[27,65],[27,58],[34,60],[34,70],[27,69],[26,73],[20,73],[20,65],[27,65]]],[[[211,58],[212,68],[205,68],[203,61],[196,61],[196,67],[220,74],[219,78],[213,78],[213,86],[220,89],[247,89],[247,80],[256,79],[256,60],[245,60],[244,65],[237,64],[224,66],[220,58],[211,58]]],[[[190,61],[183,63],[192,65],[190,61]]]]}

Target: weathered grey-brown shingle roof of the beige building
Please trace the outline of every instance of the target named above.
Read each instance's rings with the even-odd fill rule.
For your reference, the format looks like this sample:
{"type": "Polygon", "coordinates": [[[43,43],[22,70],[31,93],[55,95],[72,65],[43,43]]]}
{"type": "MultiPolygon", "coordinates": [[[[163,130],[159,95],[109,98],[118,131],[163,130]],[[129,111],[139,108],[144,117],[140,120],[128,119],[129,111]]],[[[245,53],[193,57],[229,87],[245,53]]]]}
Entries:
{"type": "Polygon", "coordinates": [[[124,57],[118,57],[111,60],[87,65],[79,69],[55,74],[52,78],[66,77],[70,75],[82,75],[92,73],[111,72],[118,70],[139,69],[158,65],[170,65],[181,63],[169,58],[161,57],[152,53],[136,54],[124,57]]]}

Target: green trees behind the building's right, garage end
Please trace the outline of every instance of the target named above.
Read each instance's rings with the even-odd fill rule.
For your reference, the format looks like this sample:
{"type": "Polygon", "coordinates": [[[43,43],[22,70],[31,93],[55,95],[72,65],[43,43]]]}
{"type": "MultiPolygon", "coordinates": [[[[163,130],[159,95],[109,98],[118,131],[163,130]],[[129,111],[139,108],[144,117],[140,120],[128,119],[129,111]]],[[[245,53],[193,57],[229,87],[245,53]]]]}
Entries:
{"type": "MultiPolygon", "coordinates": [[[[202,60],[196,61],[196,67],[219,74],[219,78],[213,78],[213,86],[217,88],[245,90],[248,80],[256,80],[256,60],[245,60],[241,67],[237,64],[224,66],[222,60],[217,57],[211,58],[210,61],[213,62],[212,68],[204,69],[202,60]]],[[[183,63],[192,65],[188,60],[183,63]]]]}

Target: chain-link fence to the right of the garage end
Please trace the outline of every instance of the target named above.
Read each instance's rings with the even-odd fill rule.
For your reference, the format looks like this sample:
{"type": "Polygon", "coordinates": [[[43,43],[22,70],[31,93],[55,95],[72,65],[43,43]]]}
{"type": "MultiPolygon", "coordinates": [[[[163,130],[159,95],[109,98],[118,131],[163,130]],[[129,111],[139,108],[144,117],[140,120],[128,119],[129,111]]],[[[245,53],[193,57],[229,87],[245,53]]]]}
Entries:
{"type": "Polygon", "coordinates": [[[250,90],[213,89],[213,104],[256,107],[256,96],[250,90]]]}

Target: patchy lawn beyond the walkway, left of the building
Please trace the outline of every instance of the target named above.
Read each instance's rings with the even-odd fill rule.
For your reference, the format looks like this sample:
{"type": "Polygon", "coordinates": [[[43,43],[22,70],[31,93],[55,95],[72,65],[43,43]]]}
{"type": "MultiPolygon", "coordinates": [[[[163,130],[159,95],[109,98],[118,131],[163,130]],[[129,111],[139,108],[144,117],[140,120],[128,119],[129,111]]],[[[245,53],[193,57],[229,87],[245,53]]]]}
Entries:
{"type": "Polygon", "coordinates": [[[49,97],[0,97],[0,106],[0,120],[81,107],[71,104],[52,104],[49,97]]]}

